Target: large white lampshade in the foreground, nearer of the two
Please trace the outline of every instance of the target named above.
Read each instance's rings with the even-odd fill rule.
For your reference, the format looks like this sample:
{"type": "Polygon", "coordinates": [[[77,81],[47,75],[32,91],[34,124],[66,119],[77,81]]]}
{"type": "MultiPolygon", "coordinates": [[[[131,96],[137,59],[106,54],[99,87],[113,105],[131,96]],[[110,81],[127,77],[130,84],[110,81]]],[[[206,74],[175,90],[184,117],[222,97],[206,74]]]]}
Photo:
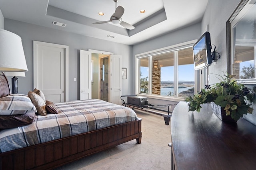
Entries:
{"type": "Polygon", "coordinates": [[[28,71],[20,36],[0,29],[0,71],[28,71]]]}

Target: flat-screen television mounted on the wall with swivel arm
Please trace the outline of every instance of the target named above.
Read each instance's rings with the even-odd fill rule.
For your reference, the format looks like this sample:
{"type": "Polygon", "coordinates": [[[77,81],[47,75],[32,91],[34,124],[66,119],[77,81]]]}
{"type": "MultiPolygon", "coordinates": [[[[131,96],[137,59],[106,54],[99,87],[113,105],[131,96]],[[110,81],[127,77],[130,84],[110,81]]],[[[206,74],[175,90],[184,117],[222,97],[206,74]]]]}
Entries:
{"type": "Polygon", "coordinates": [[[205,32],[193,45],[194,68],[199,70],[212,64],[210,33],[205,32]]]}

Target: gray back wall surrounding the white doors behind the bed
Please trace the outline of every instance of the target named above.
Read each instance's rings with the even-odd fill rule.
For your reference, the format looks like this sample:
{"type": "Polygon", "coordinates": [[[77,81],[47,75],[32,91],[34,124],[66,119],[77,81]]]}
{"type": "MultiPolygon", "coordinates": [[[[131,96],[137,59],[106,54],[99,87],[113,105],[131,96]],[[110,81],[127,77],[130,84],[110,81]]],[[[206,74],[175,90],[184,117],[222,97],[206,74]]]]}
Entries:
{"type": "MultiPolygon", "coordinates": [[[[94,49],[99,51],[109,51],[116,55],[122,55],[122,67],[128,68],[127,79],[122,80],[122,93],[130,94],[131,87],[131,65],[132,46],[120,43],[113,43],[86,37],[56,29],[32,25],[20,21],[4,19],[4,29],[16,33],[22,38],[28,72],[26,77],[18,79],[18,90],[20,94],[28,94],[33,90],[33,40],[47,43],[56,43],[69,46],[69,100],[79,99],[79,50],[94,49]],[[74,82],[74,78],[77,79],[74,82]]],[[[10,81],[10,79],[9,79],[10,81]]]]}

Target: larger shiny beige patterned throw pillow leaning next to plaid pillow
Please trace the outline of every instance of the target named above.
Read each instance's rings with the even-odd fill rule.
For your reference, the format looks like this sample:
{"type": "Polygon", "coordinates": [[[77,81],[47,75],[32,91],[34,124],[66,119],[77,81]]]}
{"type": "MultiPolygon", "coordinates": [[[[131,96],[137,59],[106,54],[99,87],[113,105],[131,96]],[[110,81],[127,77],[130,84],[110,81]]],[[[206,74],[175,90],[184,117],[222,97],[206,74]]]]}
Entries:
{"type": "Polygon", "coordinates": [[[47,114],[46,104],[41,96],[29,91],[28,97],[31,99],[32,103],[36,106],[37,114],[45,116],[47,114]]]}

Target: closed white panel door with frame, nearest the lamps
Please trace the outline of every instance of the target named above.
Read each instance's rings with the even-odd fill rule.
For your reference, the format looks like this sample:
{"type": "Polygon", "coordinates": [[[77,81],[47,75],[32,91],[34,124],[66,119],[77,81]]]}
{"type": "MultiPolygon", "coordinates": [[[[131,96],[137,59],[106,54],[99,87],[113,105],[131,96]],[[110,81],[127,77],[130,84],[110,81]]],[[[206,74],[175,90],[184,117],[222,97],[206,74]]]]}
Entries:
{"type": "Polygon", "coordinates": [[[54,103],[68,100],[66,53],[68,46],[34,41],[34,88],[42,90],[46,100],[54,103]]]}

